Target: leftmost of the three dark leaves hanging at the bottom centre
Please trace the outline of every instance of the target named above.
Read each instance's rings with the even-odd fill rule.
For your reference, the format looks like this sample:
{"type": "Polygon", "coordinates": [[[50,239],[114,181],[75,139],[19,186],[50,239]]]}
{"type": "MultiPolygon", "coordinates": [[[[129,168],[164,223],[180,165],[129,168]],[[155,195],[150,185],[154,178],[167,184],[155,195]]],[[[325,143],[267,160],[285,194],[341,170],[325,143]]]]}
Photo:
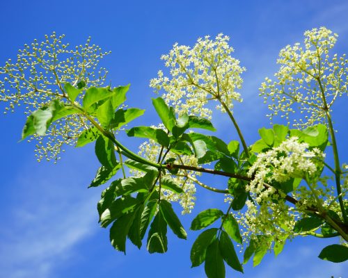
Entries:
{"type": "Polygon", "coordinates": [[[216,228],[207,229],[196,238],[191,248],[191,268],[194,268],[205,261],[207,247],[213,242],[213,240],[215,240],[217,231],[218,229],[216,228]]]}

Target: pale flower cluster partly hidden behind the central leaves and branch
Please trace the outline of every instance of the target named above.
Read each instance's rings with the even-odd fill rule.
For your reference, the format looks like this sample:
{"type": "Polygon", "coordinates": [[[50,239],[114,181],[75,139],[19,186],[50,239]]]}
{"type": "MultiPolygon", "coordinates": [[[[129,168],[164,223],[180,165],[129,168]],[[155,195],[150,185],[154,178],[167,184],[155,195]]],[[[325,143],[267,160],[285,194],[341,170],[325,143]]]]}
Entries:
{"type": "MultiPolygon", "coordinates": [[[[139,155],[143,156],[149,161],[157,161],[160,149],[161,146],[158,145],[155,141],[148,140],[143,142],[139,146],[139,155]]],[[[168,152],[165,160],[168,158],[175,158],[177,159],[177,163],[182,163],[183,165],[198,166],[198,159],[193,155],[179,156],[177,154],[174,154],[173,152],[168,152]]],[[[132,171],[132,173],[137,176],[140,176],[142,174],[141,172],[137,171],[132,171]]],[[[168,174],[168,177],[171,177],[171,179],[173,179],[175,183],[179,184],[182,187],[184,193],[177,194],[171,190],[161,188],[161,199],[166,199],[168,202],[179,202],[182,206],[182,214],[191,213],[196,201],[196,186],[194,184],[194,180],[198,175],[200,175],[199,172],[181,169],[175,175],[168,174]]]]}

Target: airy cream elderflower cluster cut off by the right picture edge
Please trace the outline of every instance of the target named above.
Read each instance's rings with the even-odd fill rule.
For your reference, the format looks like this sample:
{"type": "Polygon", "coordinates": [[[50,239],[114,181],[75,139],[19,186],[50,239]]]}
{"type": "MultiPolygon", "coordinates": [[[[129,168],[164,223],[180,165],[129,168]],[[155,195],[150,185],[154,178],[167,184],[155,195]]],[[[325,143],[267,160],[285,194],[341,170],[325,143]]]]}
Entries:
{"type": "Polygon", "coordinates": [[[313,28],[304,36],[304,47],[295,43],[280,51],[276,81],[266,78],[260,95],[264,102],[271,100],[271,120],[280,115],[294,126],[306,127],[325,123],[335,99],[347,95],[348,60],[345,54],[329,55],[338,37],[329,29],[313,28]],[[296,111],[301,118],[292,117],[296,111]]]}

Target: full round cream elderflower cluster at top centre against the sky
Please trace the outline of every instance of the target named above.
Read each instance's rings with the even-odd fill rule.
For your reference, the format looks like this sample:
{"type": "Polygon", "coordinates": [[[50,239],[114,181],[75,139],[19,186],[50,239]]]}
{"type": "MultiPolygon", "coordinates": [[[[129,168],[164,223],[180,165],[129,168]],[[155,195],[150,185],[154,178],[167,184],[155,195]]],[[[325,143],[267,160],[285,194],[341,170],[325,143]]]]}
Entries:
{"type": "Polygon", "coordinates": [[[237,90],[242,87],[240,75],[245,68],[232,58],[234,49],[228,41],[228,36],[219,34],[215,40],[199,38],[192,48],[174,44],[169,54],[161,57],[170,76],[159,71],[150,87],[156,92],[163,89],[162,97],[180,115],[210,118],[212,111],[206,107],[209,99],[219,101],[217,108],[223,112],[232,109],[233,101],[242,101],[237,90]]]}

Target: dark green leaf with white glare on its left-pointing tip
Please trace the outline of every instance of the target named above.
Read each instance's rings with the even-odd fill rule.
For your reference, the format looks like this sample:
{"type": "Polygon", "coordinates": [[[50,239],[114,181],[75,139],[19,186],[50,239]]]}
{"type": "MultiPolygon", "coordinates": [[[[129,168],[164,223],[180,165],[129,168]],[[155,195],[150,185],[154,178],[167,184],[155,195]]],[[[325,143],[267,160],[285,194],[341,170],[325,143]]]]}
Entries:
{"type": "Polygon", "coordinates": [[[139,200],[129,196],[116,199],[100,215],[100,225],[107,227],[113,220],[132,211],[137,204],[139,200]]]}

